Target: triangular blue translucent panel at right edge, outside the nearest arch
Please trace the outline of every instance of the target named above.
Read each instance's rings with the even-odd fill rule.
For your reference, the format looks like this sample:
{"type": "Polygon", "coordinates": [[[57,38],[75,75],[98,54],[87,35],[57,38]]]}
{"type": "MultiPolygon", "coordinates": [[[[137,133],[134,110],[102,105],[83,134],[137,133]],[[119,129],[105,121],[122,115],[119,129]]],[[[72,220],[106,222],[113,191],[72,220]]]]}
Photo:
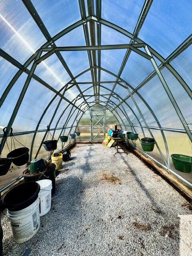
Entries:
{"type": "Polygon", "coordinates": [[[184,52],[177,56],[170,63],[175,70],[182,76],[184,81],[192,89],[192,46],[189,46],[184,52]]]}

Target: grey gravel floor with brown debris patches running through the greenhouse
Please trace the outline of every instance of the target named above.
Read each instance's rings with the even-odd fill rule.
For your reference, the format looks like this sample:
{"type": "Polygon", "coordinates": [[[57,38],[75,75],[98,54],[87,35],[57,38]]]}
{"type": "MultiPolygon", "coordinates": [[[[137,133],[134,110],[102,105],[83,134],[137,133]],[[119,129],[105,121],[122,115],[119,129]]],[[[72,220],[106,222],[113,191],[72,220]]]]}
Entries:
{"type": "Polygon", "coordinates": [[[191,205],[136,156],[115,152],[102,144],[71,150],[56,178],[52,208],[29,241],[14,242],[4,211],[4,255],[192,255],[191,235],[186,228],[180,234],[180,215],[191,217],[191,205]]]}

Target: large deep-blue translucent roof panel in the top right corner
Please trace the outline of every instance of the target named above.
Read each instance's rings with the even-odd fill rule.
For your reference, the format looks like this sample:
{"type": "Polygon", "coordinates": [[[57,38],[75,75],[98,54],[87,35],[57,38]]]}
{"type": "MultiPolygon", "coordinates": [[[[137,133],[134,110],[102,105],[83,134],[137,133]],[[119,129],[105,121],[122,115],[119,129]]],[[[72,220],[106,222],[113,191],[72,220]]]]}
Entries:
{"type": "Polygon", "coordinates": [[[191,34],[191,9],[188,0],[153,1],[139,38],[166,58],[191,34]]]}

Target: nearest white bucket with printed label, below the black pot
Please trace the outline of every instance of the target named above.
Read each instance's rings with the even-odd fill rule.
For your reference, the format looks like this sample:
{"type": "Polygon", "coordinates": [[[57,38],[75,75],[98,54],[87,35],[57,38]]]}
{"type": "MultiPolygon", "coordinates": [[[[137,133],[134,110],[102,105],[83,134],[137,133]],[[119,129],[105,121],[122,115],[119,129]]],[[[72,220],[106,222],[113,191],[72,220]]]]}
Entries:
{"type": "Polygon", "coordinates": [[[7,210],[11,222],[14,241],[23,243],[32,238],[40,227],[39,215],[40,198],[23,210],[11,212],[7,210]]]}

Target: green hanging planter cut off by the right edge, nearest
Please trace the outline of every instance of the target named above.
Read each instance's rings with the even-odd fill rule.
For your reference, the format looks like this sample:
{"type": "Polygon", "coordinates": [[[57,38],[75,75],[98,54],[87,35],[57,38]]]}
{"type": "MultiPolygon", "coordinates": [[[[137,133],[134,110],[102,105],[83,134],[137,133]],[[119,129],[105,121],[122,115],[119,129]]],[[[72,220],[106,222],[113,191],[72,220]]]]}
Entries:
{"type": "Polygon", "coordinates": [[[176,170],[185,173],[192,173],[192,157],[180,154],[171,155],[176,170]]]}

